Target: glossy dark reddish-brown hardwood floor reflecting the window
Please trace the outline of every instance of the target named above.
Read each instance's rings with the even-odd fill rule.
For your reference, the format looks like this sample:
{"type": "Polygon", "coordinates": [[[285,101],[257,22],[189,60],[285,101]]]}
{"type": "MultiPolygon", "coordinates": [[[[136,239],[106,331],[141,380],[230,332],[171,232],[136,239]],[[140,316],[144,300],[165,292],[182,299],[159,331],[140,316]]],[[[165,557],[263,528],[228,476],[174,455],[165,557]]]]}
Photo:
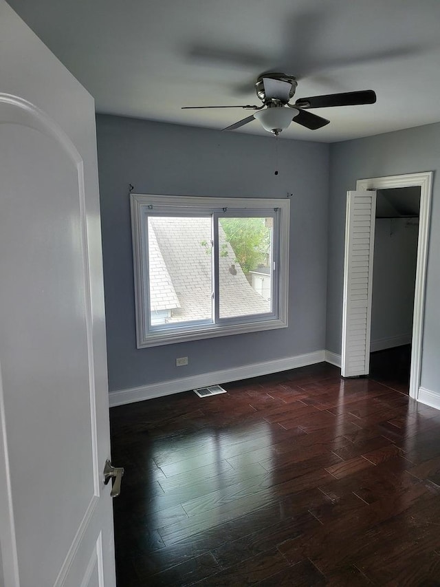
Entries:
{"type": "Polygon", "coordinates": [[[118,587],[439,586],[440,412],[339,373],[111,409],[118,587]]]}

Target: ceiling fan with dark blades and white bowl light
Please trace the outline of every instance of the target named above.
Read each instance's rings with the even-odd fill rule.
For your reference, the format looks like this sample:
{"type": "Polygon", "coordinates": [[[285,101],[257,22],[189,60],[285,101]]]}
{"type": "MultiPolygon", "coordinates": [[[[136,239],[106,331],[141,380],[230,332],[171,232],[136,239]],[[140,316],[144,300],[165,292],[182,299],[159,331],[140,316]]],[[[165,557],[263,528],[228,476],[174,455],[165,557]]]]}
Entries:
{"type": "Polygon", "coordinates": [[[289,127],[290,123],[296,122],[307,129],[316,130],[328,125],[330,120],[322,118],[317,114],[309,112],[313,108],[328,108],[333,106],[355,106],[360,104],[374,104],[376,94],[372,89],[365,89],[360,92],[344,92],[342,94],[327,94],[325,96],[311,96],[299,98],[294,105],[289,100],[294,97],[296,78],[280,72],[262,74],[256,81],[255,91],[263,103],[261,106],[184,106],[182,109],[199,108],[243,108],[245,110],[256,110],[239,122],[235,122],[225,131],[233,131],[247,125],[256,118],[263,128],[275,136],[289,127]]]}

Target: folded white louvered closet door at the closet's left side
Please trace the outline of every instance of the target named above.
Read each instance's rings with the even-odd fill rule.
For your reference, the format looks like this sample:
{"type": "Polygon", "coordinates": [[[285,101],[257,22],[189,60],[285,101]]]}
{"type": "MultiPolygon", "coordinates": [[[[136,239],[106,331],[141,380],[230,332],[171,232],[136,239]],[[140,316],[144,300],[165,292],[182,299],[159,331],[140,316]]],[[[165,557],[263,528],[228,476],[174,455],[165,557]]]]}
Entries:
{"type": "Polygon", "coordinates": [[[375,191],[347,192],[342,313],[343,377],[369,373],[375,213],[375,191]]]}

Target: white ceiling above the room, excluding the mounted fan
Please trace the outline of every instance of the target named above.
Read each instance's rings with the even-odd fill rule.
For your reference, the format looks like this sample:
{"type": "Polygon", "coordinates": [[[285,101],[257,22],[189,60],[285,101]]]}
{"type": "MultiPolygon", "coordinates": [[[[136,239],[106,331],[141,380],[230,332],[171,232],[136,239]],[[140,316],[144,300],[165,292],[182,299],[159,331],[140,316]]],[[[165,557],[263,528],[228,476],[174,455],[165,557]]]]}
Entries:
{"type": "MultiPolygon", "coordinates": [[[[331,123],[283,138],[333,142],[440,120],[440,0],[8,0],[96,99],[98,112],[222,129],[260,104],[259,74],[295,98],[374,89],[316,109],[331,123]]],[[[254,120],[238,131],[264,134],[254,120]]]]}

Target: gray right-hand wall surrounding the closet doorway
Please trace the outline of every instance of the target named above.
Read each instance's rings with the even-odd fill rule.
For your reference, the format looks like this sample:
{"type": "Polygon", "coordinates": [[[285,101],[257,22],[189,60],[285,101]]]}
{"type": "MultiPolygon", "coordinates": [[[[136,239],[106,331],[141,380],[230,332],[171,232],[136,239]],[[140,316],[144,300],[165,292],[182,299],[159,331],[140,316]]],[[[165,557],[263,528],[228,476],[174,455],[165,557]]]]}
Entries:
{"type": "MultiPolygon", "coordinates": [[[[355,189],[358,179],[417,171],[437,172],[440,167],[440,123],[336,143],[331,145],[330,155],[327,349],[339,354],[346,192],[355,189]]],[[[439,250],[440,184],[434,174],[421,385],[437,392],[440,392],[439,250]]]]}

